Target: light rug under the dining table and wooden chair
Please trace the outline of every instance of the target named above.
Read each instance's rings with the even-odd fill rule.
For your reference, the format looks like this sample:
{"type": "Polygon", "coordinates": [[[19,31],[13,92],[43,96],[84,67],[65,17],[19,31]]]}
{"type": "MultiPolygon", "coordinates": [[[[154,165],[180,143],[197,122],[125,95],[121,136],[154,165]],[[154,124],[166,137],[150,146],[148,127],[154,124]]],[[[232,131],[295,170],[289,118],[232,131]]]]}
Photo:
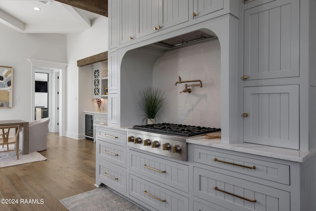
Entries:
{"type": "MultiPolygon", "coordinates": [[[[9,149],[14,149],[14,146],[9,146],[9,149]]],[[[0,146],[0,151],[6,150],[6,147],[2,148],[2,145],[0,146]]],[[[19,160],[16,159],[15,151],[12,152],[5,152],[0,153],[0,168],[3,167],[10,167],[10,166],[16,166],[21,164],[28,164],[38,161],[45,161],[46,158],[42,156],[38,152],[31,152],[27,155],[22,155],[21,151],[19,150],[19,160]]]]}

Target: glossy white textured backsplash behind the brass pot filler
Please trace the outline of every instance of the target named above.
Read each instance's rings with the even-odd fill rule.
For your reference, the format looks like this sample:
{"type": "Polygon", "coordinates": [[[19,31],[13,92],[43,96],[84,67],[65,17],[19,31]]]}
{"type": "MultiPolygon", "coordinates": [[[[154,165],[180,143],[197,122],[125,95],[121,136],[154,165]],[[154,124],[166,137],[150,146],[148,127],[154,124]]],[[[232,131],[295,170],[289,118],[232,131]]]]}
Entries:
{"type": "Polygon", "coordinates": [[[166,106],[163,122],[221,127],[221,51],[218,40],[167,51],[153,71],[153,87],[165,91],[166,106]],[[201,80],[203,86],[189,87],[191,93],[182,92],[182,81],[201,80]]]}

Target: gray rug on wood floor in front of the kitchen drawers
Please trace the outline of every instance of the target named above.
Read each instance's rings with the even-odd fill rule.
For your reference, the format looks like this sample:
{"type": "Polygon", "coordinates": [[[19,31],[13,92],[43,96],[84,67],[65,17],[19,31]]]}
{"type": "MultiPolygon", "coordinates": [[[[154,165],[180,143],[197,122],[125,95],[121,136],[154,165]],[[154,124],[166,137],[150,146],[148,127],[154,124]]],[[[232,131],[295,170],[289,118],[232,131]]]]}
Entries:
{"type": "Polygon", "coordinates": [[[106,187],[59,200],[69,211],[144,211],[106,187]]]}

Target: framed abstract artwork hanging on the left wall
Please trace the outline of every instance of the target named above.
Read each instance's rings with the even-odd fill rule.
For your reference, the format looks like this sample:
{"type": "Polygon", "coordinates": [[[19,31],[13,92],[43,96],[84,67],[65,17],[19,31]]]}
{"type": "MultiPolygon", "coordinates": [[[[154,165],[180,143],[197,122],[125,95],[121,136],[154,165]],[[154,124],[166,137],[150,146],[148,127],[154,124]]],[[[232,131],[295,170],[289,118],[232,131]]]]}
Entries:
{"type": "Polygon", "coordinates": [[[12,108],[13,67],[0,66],[0,108],[12,108]]]}

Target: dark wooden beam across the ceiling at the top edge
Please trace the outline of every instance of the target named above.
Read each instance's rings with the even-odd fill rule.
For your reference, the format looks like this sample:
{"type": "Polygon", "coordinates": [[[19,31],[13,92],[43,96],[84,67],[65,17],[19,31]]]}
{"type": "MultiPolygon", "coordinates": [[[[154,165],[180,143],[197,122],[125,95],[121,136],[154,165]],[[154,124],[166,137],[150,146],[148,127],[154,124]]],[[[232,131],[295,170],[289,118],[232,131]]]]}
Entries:
{"type": "Polygon", "coordinates": [[[108,17],[108,0],[56,0],[56,1],[108,17]]]}

